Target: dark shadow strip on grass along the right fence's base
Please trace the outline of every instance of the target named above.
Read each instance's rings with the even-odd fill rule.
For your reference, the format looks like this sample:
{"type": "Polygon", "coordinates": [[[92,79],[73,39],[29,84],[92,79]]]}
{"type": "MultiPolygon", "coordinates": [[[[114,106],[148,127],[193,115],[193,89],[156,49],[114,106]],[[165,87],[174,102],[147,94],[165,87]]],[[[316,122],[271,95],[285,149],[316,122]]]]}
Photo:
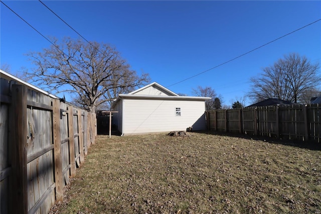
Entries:
{"type": "Polygon", "coordinates": [[[204,131],[204,132],[197,132],[197,133],[237,137],[237,138],[243,138],[243,139],[249,139],[249,140],[258,140],[258,141],[264,141],[272,144],[281,144],[285,146],[292,146],[292,147],[298,147],[303,149],[321,151],[321,143],[318,143],[317,141],[312,141],[312,140],[299,141],[299,140],[277,139],[277,138],[268,137],[268,136],[255,136],[255,135],[246,135],[246,134],[231,133],[231,132],[223,133],[223,132],[204,131]]]}

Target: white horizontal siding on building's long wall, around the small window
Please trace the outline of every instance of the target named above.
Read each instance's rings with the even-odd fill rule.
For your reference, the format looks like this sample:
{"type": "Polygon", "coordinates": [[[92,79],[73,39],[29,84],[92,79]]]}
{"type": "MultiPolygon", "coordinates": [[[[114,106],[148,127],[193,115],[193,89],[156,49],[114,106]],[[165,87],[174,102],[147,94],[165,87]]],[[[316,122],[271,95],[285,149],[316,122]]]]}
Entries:
{"type": "Polygon", "coordinates": [[[204,100],[124,99],[123,134],[205,130],[204,100]],[[181,108],[181,116],[176,116],[181,108]]]}

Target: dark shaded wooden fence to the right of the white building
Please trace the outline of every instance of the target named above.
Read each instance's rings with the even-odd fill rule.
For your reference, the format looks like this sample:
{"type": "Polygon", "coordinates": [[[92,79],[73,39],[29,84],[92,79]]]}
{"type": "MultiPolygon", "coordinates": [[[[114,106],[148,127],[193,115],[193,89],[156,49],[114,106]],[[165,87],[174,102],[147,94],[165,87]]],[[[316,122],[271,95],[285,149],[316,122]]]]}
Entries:
{"type": "Polygon", "coordinates": [[[320,104],[260,106],[206,112],[209,131],[321,142],[320,104]]]}

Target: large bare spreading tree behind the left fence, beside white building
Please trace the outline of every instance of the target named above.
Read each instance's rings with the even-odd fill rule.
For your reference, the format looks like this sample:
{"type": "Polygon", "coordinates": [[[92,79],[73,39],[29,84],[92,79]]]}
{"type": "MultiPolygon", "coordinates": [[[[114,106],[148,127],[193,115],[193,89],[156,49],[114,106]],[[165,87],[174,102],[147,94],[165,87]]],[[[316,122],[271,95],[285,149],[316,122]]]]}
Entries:
{"type": "Polygon", "coordinates": [[[149,75],[138,76],[117,50],[107,44],[80,39],[57,39],[43,52],[28,54],[36,65],[25,71],[42,87],[53,92],[68,91],[90,112],[103,102],[111,102],[119,92],[131,90],[149,81],[149,75]]]}

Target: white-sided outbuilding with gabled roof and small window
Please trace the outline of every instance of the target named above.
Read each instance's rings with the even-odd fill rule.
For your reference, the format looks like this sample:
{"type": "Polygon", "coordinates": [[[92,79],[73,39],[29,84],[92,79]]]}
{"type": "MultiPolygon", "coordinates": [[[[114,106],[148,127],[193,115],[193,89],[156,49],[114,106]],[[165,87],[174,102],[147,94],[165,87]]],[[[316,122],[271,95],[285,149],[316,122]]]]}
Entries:
{"type": "Polygon", "coordinates": [[[122,135],[206,130],[205,100],[211,97],[179,96],[153,82],[128,94],[119,94],[112,104],[113,125],[122,135]]]}

